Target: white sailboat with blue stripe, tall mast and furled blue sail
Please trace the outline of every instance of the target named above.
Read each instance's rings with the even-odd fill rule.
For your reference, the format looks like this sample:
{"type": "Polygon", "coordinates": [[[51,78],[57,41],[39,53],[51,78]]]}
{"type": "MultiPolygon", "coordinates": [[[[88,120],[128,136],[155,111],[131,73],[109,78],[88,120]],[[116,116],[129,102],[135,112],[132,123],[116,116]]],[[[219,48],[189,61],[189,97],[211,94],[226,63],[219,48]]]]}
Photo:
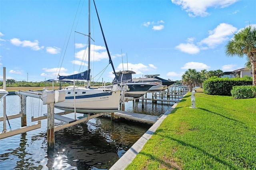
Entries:
{"type": "MultiPolygon", "coordinates": [[[[96,9],[96,5],[94,2],[94,6],[96,9]]],[[[88,70],[68,76],[60,76],[58,77],[59,81],[74,81],[75,80],[84,80],[87,81],[87,86],[79,87],[76,86],[75,83],[73,86],[65,87],[64,90],[66,93],[65,101],[60,103],[55,103],[54,107],[65,110],[65,111],[73,111],[76,113],[112,113],[118,111],[121,90],[116,88],[111,91],[104,91],[102,89],[91,88],[90,87],[90,0],[88,0],[88,10],[89,10],[89,28],[88,28],[88,70]]],[[[98,16],[98,12],[96,9],[96,13],[98,16]]],[[[98,16],[98,21],[100,23],[100,19],[98,16]]],[[[102,26],[100,24],[100,28],[102,31],[102,26]]],[[[104,42],[106,45],[106,49],[108,51],[108,47],[106,44],[106,40],[102,31],[102,36],[104,38],[104,42]]],[[[115,73],[114,65],[112,63],[112,59],[110,57],[110,53],[108,51],[109,62],[112,65],[112,69],[115,73]]]]}

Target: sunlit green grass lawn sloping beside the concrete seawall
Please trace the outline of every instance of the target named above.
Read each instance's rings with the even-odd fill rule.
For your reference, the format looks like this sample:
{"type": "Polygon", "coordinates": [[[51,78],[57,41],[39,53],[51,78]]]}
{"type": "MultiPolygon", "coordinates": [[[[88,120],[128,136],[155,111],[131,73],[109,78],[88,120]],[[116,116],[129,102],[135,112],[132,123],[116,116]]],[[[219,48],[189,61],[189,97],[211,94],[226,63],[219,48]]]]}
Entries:
{"type": "Polygon", "coordinates": [[[158,127],[126,170],[256,169],[256,98],[191,93],[158,127]]]}

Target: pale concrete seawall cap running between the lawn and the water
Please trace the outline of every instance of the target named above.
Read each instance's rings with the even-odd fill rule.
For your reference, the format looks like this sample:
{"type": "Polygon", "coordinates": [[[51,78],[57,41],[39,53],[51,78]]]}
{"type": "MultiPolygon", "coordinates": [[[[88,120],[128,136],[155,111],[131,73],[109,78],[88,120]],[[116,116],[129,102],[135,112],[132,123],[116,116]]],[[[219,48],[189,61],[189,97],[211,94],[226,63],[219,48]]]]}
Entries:
{"type": "Polygon", "coordinates": [[[183,97],[179,99],[170,110],[166,111],[164,115],[162,115],[162,117],[160,117],[160,119],[156,121],[156,123],[154,123],[154,125],[152,125],[152,127],[150,127],[109,170],[124,170],[124,168],[126,168],[136,157],[136,155],[142,150],[144,144],[146,144],[146,142],[151,138],[152,134],[154,134],[156,129],[161,125],[164,119],[172,112],[172,110],[178,105],[178,103],[183,99],[183,97]]]}

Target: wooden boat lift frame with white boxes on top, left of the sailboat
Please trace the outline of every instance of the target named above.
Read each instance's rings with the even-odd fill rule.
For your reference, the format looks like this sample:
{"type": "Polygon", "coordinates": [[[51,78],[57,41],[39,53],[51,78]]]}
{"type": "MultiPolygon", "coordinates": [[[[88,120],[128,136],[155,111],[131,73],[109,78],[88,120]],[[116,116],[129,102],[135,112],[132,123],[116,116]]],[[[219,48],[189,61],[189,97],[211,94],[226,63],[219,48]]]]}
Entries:
{"type": "MultiPolygon", "coordinates": [[[[4,90],[6,90],[6,77],[5,77],[5,67],[4,67],[4,75],[3,75],[3,82],[4,82],[4,90]]],[[[48,148],[53,148],[54,147],[54,132],[66,127],[70,127],[72,125],[76,125],[78,123],[88,121],[89,119],[92,119],[94,117],[99,117],[104,115],[102,114],[97,114],[97,115],[92,115],[88,117],[83,117],[82,119],[76,120],[75,119],[70,119],[68,117],[64,117],[61,115],[68,114],[68,113],[73,113],[73,112],[68,112],[64,111],[62,113],[56,113],[54,114],[54,103],[62,102],[65,100],[65,91],[64,90],[45,90],[44,91],[16,91],[16,95],[20,97],[20,113],[16,115],[10,115],[6,116],[6,99],[5,97],[3,98],[3,103],[4,103],[4,109],[3,109],[3,117],[0,117],[0,121],[3,121],[3,131],[0,133],[0,139],[9,137],[9,136],[14,136],[16,134],[21,134],[24,132],[28,132],[30,130],[34,130],[37,128],[41,128],[41,120],[42,119],[47,119],[47,144],[48,148]],[[30,125],[27,126],[27,121],[26,121],[26,97],[34,97],[34,98],[39,98],[42,99],[43,104],[47,105],[47,114],[44,114],[43,117],[32,117],[31,121],[38,121],[37,124],[35,125],[30,125]],[[6,130],[6,119],[15,119],[21,117],[21,128],[15,129],[15,130],[6,130]],[[60,125],[58,127],[54,127],[54,119],[58,119],[60,121],[65,122],[66,124],[60,125]]],[[[76,117],[76,114],[75,114],[76,117]]]]}

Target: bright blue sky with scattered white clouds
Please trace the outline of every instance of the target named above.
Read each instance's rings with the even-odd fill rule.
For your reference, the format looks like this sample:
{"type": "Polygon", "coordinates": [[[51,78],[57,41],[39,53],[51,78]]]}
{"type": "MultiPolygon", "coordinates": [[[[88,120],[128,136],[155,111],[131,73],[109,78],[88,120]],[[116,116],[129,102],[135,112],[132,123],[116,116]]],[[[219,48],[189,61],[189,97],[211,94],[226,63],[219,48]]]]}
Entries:
{"type": "MultiPolygon", "coordinates": [[[[176,81],[188,69],[233,71],[246,63],[246,57],[227,57],[225,45],[233,33],[256,26],[255,0],[95,2],[115,69],[135,71],[133,78],[160,74],[176,81]]],[[[0,0],[0,80],[3,67],[6,79],[16,81],[86,70],[87,55],[82,59],[88,41],[75,33],[88,34],[88,1],[82,4],[0,0]]],[[[94,81],[110,82],[114,75],[92,5],[91,73],[94,81]]]]}

